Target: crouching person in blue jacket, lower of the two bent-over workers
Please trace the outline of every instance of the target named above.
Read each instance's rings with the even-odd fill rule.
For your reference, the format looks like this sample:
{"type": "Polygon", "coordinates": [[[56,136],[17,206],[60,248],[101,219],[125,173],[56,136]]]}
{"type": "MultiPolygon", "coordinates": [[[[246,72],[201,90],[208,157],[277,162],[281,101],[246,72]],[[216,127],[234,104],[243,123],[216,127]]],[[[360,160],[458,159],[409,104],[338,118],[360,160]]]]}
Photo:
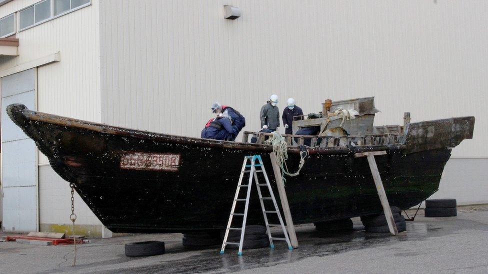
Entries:
{"type": "Polygon", "coordinates": [[[201,138],[222,141],[233,141],[237,136],[237,127],[232,126],[231,118],[227,114],[219,114],[218,117],[209,121],[201,131],[201,138]]]}

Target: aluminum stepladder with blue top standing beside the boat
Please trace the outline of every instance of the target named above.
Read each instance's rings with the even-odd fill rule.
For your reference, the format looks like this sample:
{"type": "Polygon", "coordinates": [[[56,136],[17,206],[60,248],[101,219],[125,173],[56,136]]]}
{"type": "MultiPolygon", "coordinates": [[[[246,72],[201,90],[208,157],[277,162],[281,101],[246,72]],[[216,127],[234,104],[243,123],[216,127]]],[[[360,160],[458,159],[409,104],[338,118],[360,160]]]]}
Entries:
{"type": "Polygon", "coordinates": [[[269,184],[269,179],[267,178],[266,170],[264,169],[264,165],[262,163],[262,159],[260,155],[253,155],[253,156],[245,156],[244,157],[244,163],[242,164],[242,169],[240,170],[240,176],[239,176],[239,182],[237,183],[237,189],[235,191],[235,196],[234,196],[234,201],[232,203],[232,208],[230,210],[230,215],[229,215],[229,220],[227,223],[227,228],[225,229],[225,236],[223,238],[223,243],[222,243],[222,248],[220,249],[220,254],[223,254],[225,250],[226,245],[236,245],[239,246],[239,251],[237,252],[237,255],[242,255],[242,243],[244,242],[244,233],[245,233],[245,222],[247,219],[247,210],[249,208],[249,197],[251,193],[251,187],[252,187],[252,182],[254,178],[255,185],[257,187],[257,194],[259,195],[259,202],[261,204],[261,211],[262,211],[262,216],[264,217],[264,223],[266,225],[266,234],[269,238],[269,244],[270,248],[274,248],[273,240],[274,241],[286,241],[286,244],[288,245],[288,249],[292,250],[293,248],[291,247],[289,238],[288,238],[288,233],[286,232],[285,226],[283,224],[283,219],[281,218],[281,214],[279,213],[278,205],[276,204],[276,199],[274,198],[273,190],[271,189],[271,184],[269,184]],[[247,162],[250,162],[248,164],[247,162]],[[256,161],[258,163],[256,163],[256,161]],[[259,169],[256,169],[258,167],[259,169]],[[249,179],[247,182],[247,185],[242,184],[242,180],[244,178],[244,174],[248,173],[249,174],[249,179]],[[265,184],[259,184],[259,180],[257,179],[257,173],[262,173],[264,177],[264,181],[266,182],[265,184]],[[270,197],[262,197],[261,194],[261,187],[266,186],[270,197]],[[239,199],[239,191],[241,188],[247,188],[247,195],[245,199],[239,199]],[[266,210],[264,207],[264,200],[271,200],[273,202],[274,210],[266,210]],[[235,213],[235,205],[237,202],[245,202],[245,207],[244,207],[244,212],[243,213],[235,213]],[[278,217],[279,224],[269,224],[267,220],[267,215],[268,214],[275,214],[278,217]],[[232,228],[232,218],[234,216],[242,216],[242,226],[240,228],[232,228]],[[283,234],[284,238],[276,238],[271,236],[271,227],[280,227],[283,234]],[[237,230],[240,231],[240,241],[237,242],[227,242],[227,237],[229,234],[230,230],[237,230]]]}

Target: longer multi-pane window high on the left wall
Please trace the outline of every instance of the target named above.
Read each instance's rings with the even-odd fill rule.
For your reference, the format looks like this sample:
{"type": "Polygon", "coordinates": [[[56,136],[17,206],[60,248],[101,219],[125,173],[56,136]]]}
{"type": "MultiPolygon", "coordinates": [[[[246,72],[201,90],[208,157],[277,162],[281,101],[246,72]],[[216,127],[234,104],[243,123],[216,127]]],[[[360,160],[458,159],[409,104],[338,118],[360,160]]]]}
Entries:
{"type": "Polygon", "coordinates": [[[61,16],[89,4],[90,0],[43,0],[37,2],[18,12],[19,30],[61,16]]]}

